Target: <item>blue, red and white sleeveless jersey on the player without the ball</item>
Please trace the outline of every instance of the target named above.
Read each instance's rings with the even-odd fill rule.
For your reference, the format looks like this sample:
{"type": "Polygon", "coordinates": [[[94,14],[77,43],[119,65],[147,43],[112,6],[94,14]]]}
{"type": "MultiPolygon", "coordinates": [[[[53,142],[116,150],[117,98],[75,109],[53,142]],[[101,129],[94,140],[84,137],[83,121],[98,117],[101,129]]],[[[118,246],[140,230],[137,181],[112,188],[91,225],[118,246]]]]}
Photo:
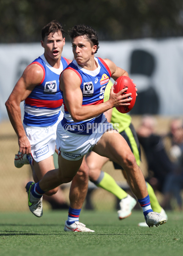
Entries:
{"type": "Polygon", "coordinates": [[[59,90],[59,76],[69,61],[61,57],[60,68],[56,69],[41,55],[31,64],[38,64],[43,69],[44,76],[24,101],[23,123],[28,126],[50,126],[57,122],[60,115],[63,99],[59,90]]]}

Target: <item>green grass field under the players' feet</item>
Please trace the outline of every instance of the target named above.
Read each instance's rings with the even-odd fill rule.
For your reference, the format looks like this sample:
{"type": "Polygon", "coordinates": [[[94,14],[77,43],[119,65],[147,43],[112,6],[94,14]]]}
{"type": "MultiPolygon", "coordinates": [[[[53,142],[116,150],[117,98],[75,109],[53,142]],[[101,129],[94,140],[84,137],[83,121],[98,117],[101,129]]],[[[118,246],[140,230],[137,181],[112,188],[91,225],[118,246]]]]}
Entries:
{"type": "Polygon", "coordinates": [[[95,233],[64,232],[67,211],[0,213],[1,256],[183,255],[183,214],[167,212],[159,227],[138,227],[141,210],[119,221],[117,212],[82,211],[80,221],[95,233]]]}

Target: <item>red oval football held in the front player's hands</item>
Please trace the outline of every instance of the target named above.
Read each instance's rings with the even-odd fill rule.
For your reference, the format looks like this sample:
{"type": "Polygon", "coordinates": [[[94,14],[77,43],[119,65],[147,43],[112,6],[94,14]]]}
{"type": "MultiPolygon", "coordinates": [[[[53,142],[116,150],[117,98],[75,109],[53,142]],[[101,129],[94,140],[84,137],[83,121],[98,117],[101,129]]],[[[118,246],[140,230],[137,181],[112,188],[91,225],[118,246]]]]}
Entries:
{"type": "Polygon", "coordinates": [[[128,89],[127,91],[124,92],[124,94],[131,93],[132,100],[130,101],[130,105],[116,107],[119,112],[128,113],[133,108],[136,100],[136,90],[135,90],[134,83],[131,81],[129,77],[122,75],[118,77],[118,79],[115,81],[113,86],[114,86],[114,93],[119,93],[119,91],[123,90],[126,87],[128,89]]]}

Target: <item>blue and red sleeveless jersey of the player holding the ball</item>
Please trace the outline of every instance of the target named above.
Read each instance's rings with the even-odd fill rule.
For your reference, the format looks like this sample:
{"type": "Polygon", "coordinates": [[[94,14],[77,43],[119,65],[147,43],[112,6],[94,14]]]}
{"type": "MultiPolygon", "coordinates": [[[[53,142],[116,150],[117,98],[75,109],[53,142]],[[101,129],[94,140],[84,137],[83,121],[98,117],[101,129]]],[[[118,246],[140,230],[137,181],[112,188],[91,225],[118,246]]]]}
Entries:
{"type": "MultiPolygon", "coordinates": [[[[104,91],[106,88],[106,85],[109,82],[109,79],[111,77],[111,72],[109,70],[109,67],[106,65],[106,63],[101,59],[101,58],[96,58],[95,57],[95,61],[98,64],[98,67],[93,70],[93,71],[89,71],[85,68],[81,68],[76,60],[73,60],[66,69],[71,69],[74,72],[76,72],[76,74],[80,77],[81,80],[81,91],[83,94],[83,102],[82,105],[96,105],[96,104],[100,104],[104,101],[104,91]]],[[[62,97],[63,97],[63,92],[62,93],[62,97]]],[[[63,104],[64,104],[64,118],[62,120],[62,125],[66,126],[67,124],[69,124],[70,126],[72,126],[72,122],[73,122],[73,126],[74,130],[70,129],[70,132],[72,133],[80,133],[80,134],[91,134],[92,131],[88,130],[87,127],[87,123],[100,123],[103,114],[93,118],[93,119],[89,119],[89,120],[85,120],[80,122],[82,127],[85,127],[85,129],[82,128],[82,132],[78,132],[78,127],[79,126],[74,126],[75,122],[71,119],[71,116],[65,106],[64,103],[64,98],[63,98],[63,104]]]]}

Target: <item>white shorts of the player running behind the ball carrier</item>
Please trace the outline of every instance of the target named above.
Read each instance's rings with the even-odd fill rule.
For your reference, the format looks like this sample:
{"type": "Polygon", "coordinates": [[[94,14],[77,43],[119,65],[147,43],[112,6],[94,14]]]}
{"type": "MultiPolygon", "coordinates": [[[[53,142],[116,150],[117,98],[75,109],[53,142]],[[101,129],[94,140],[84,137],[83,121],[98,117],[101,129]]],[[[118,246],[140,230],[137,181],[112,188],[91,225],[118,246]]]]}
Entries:
{"type": "Polygon", "coordinates": [[[40,162],[53,155],[56,146],[56,128],[63,119],[63,112],[58,121],[52,126],[37,127],[27,126],[23,123],[26,136],[30,141],[32,157],[36,162],[40,162]]]}

